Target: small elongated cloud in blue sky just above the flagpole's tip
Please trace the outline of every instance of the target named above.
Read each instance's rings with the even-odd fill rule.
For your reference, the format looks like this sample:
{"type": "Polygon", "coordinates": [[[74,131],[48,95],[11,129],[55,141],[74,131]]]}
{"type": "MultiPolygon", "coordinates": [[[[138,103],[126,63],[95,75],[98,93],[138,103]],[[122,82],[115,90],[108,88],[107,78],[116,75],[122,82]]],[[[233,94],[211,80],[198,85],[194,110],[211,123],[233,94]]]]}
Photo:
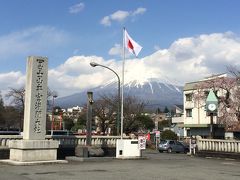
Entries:
{"type": "Polygon", "coordinates": [[[123,22],[129,17],[136,17],[137,15],[142,15],[146,12],[146,8],[137,8],[135,11],[121,11],[118,10],[113,14],[105,16],[101,19],[100,23],[104,26],[111,26],[113,21],[123,22]]]}

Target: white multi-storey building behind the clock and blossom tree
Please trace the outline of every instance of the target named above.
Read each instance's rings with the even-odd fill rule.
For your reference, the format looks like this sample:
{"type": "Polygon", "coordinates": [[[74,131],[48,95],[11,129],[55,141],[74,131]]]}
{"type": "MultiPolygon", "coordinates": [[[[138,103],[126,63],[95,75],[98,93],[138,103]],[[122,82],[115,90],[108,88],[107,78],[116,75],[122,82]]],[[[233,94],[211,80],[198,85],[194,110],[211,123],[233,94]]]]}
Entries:
{"type": "MultiPolygon", "coordinates": [[[[186,83],[183,89],[183,103],[184,103],[184,136],[197,136],[202,137],[210,136],[210,116],[206,112],[205,100],[199,100],[194,98],[199,89],[197,85],[200,82],[207,81],[213,78],[226,77],[226,74],[220,74],[217,76],[211,76],[197,82],[186,83]]],[[[206,97],[209,93],[209,89],[206,89],[206,97]]],[[[224,136],[224,128],[222,124],[217,121],[217,116],[213,117],[215,137],[224,136]]]]}

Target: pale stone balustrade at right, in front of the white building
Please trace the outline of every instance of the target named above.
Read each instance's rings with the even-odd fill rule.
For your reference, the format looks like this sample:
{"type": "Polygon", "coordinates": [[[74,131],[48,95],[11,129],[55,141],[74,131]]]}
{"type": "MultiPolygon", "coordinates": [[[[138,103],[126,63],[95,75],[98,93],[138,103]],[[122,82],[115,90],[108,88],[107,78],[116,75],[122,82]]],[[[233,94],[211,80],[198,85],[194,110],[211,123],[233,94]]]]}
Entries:
{"type": "Polygon", "coordinates": [[[240,141],[220,139],[198,139],[199,151],[240,153],[240,141]]]}

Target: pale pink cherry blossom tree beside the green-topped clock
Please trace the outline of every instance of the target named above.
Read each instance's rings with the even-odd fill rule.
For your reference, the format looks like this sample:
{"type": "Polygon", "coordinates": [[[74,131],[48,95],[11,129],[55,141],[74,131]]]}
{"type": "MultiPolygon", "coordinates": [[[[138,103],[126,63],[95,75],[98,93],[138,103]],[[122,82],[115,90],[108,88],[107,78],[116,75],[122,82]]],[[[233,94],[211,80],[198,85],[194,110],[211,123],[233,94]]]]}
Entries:
{"type": "Polygon", "coordinates": [[[234,129],[240,121],[240,89],[235,77],[214,77],[195,85],[193,98],[197,107],[205,106],[206,98],[212,89],[218,99],[218,123],[226,129],[234,129]]]}

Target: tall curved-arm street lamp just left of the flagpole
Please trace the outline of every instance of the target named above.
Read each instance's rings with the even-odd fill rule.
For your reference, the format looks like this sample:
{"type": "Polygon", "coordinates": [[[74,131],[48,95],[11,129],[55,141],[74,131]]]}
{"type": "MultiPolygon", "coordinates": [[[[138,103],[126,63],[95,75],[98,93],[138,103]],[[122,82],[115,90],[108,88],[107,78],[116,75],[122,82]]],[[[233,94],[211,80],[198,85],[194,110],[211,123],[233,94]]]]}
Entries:
{"type": "Polygon", "coordinates": [[[101,66],[103,68],[106,68],[110,71],[112,71],[118,78],[118,113],[117,113],[117,135],[119,135],[119,129],[120,129],[120,106],[121,106],[121,98],[120,98],[120,78],[118,76],[118,74],[111,68],[107,67],[107,66],[104,66],[104,65],[101,65],[101,64],[98,64],[98,63],[95,63],[95,62],[91,62],[90,65],[92,67],[96,67],[96,66],[101,66]]]}

